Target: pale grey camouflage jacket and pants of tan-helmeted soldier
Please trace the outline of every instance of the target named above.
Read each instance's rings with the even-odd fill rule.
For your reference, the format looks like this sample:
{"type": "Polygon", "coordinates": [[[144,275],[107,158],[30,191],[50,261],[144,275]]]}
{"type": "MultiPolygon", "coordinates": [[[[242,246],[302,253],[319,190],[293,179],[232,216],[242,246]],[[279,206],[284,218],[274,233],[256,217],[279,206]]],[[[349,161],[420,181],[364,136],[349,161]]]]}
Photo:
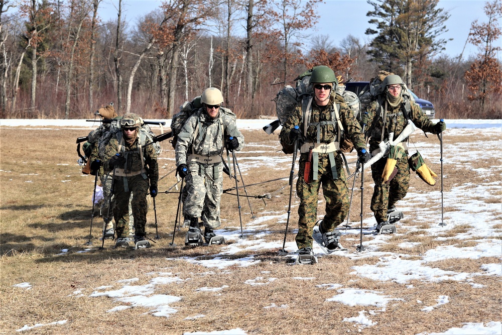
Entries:
{"type": "Polygon", "coordinates": [[[188,118],[178,135],[176,143],[176,166],[187,164],[190,173],[185,177],[186,197],[183,202],[183,214],[190,217],[201,217],[204,226],[216,229],[220,222],[220,199],[223,193],[223,164],[221,159],[216,163],[205,164],[191,161],[190,154],[200,156],[218,156],[223,153],[224,141],[232,136],[239,142],[236,151],[244,147],[244,137],[237,129],[235,121],[221,111],[211,119],[205,107],[188,118]],[[196,128],[198,128],[196,132],[196,128]]]}

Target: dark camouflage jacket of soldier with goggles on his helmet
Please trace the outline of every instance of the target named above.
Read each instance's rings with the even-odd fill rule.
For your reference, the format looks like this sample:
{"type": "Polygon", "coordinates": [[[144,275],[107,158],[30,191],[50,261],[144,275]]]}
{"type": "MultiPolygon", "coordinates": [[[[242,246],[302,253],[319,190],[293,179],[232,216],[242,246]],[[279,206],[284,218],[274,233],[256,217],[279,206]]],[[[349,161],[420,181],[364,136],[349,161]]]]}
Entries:
{"type": "MultiPolygon", "coordinates": [[[[117,133],[117,136],[114,136],[110,139],[110,142],[104,148],[102,152],[103,155],[103,169],[105,173],[110,172],[110,166],[108,165],[109,159],[118,153],[118,140],[117,137],[120,137],[121,132],[117,133]]],[[[121,154],[126,156],[127,161],[124,164],[124,170],[128,170],[131,172],[141,171],[142,170],[142,162],[139,150],[139,138],[133,143],[133,145],[128,146],[125,142],[122,146],[121,154]]],[[[145,144],[150,143],[150,140],[146,140],[145,144]]],[[[145,145],[143,144],[143,145],[145,145]]],[[[153,145],[149,145],[147,147],[143,147],[143,159],[145,163],[145,169],[148,173],[148,178],[150,179],[150,185],[157,187],[157,182],[159,180],[159,165],[157,163],[157,153],[153,145]]],[[[101,153],[100,153],[101,155],[101,153]]],[[[117,166],[122,168],[122,166],[117,166]]]]}

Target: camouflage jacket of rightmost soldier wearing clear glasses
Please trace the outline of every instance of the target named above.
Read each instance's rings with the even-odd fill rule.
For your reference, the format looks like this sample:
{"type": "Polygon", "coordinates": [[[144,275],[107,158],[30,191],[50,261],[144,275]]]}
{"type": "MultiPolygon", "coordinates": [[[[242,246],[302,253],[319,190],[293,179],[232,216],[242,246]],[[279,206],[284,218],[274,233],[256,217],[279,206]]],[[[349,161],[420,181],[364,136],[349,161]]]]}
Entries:
{"type": "MultiPolygon", "coordinates": [[[[385,98],[383,99],[383,103],[386,103],[385,98]]],[[[424,114],[422,109],[420,109],[420,106],[411,100],[410,105],[410,113],[406,111],[405,99],[395,108],[389,105],[390,109],[387,110],[384,127],[382,110],[385,109],[385,106],[381,108],[379,100],[372,101],[366,108],[368,113],[366,130],[368,130],[367,134],[369,134],[369,144],[374,146],[382,141],[382,129],[384,130],[384,140],[389,137],[389,133],[394,133],[394,138],[398,137],[408,125],[406,114],[410,114],[408,118],[415,126],[422,129],[424,132],[435,134],[434,124],[429,120],[427,115],[424,114]]]]}

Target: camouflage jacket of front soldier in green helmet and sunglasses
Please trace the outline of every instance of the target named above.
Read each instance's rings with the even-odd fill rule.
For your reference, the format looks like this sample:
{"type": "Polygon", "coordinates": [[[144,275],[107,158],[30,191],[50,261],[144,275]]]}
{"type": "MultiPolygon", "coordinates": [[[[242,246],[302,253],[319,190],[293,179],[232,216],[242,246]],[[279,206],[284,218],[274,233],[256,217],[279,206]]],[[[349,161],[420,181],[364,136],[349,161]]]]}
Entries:
{"type": "MultiPolygon", "coordinates": [[[[311,96],[307,97],[310,99],[311,96]]],[[[343,97],[339,94],[330,95],[329,102],[326,108],[323,111],[319,108],[319,106],[315,103],[315,99],[312,99],[312,114],[310,116],[310,123],[317,123],[322,121],[336,121],[331,120],[331,111],[335,107],[334,104],[340,104],[339,115],[343,127],[344,135],[352,141],[354,147],[357,148],[365,148],[364,136],[362,135],[361,126],[357,122],[354,114],[350,110],[350,107],[343,101],[343,97]]],[[[287,144],[292,144],[291,139],[289,138],[289,133],[291,129],[295,126],[300,126],[300,129],[304,129],[304,120],[303,119],[303,110],[302,105],[298,105],[294,112],[288,117],[288,120],[283,125],[283,129],[281,130],[280,137],[281,140],[287,144]]],[[[335,122],[334,124],[328,124],[321,126],[321,131],[319,134],[321,143],[331,143],[336,142],[338,140],[338,124],[335,122]]],[[[317,127],[309,126],[307,127],[307,142],[317,142],[317,127]]],[[[304,153],[300,157],[300,161],[307,159],[308,153],[304,153]]]]}

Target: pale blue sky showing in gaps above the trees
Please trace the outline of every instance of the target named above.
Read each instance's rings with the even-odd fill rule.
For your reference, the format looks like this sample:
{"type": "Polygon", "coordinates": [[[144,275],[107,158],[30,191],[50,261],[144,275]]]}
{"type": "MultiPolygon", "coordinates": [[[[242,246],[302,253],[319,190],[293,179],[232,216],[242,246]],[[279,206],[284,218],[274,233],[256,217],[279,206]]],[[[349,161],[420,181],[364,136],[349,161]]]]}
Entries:
{"type": "MultiPolygon", "coordinates": [[[[134,26],[138,18],[159,9],[162,4],[161,0],[123,0],[123,9],[126,13],[126,18],[134,26]]],[[[464,48],[464,45],[469,34],[471,23],[478,20],[479,23],[487,22],[483,7],[483,0],[440,0],[439,8],[448,11],[450,19],[446,22],[448,32],[442,35],[442,38],[453,38],[446,44],[445,53],[451,57],[458,57],[464,48]]],[[[101,3],[99,11],[100,16],[104,21],[116,19],[116,9],[118,0],[104,0],[101,3]]],[[[313,34],[329,35],[329,40],[332,45],[339,46],[340,42],[349,34],[359,38],[361,43],[367,42],[369,36],[364,34],[365,30],[370,27],[368,24],[369,18],[366,13],[372,7],[367,4],[366,0],[325,0],[323,4],[318,6],[320,14],[317,31],[312,31],[313,34]]],[[[371,26],[374,28],[374,25],[371,26]]],[[[499,40],[499,45],[502,45],[502,39],[499,40]]],[[[306,45],[306,49],[310,49],[310,45],[306,45]]],[[[472,44],[465,46],[463,58],[475,56],[477,49],[472,44]]],[[[498,58],[501,58],[499,54],[498,58]]]]}

